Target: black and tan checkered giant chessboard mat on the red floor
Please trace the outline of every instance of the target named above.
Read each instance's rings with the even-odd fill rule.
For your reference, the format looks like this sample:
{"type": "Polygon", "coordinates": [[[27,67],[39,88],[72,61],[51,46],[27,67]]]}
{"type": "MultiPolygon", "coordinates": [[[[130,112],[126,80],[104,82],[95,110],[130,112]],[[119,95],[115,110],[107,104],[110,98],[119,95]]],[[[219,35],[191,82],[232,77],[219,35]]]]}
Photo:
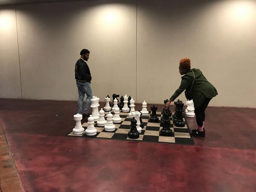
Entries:
{"type": "MultiPolygon", "coordinates": [[[[108,114],[108,112],[105,112],[108,114]]],[[[113,113],[112,113],[113,114],[113,113]]],[[[172,113],[173,115],[174,113],[172,113]]],[[[171,121],[171,130],[172,135],[169,137],[162,136],[160,130],[163,128],[160,126],[160,118],[163,116],[161,112],[157,112],[159,121],[157,123],[148,122],[149,116],[142,116],[142,121],[144,128],[140,133],[138,139],[130,139],[128,137],[128,132],[131,128],[131,117],[128,116],[128,113],[120,112],[120,117],[122,121],[120,123],[115,123],[116,126],[114,131],[108,132],[105,131],[104,127],[99,127],[94,123],[97,133],[94,136],[87,136],[85,132],[81,135],[75,135],[73,132],[67,134],[70,137],[81,137],[81,138],[95,138],[95,139],[112,139],[112,140],[126,140],[126,141],[137,141],[137,142],[154,142],[154,143],[175,143],[175,144],[186,144],[193,145],[195,144],[191,134],[189,125],[186,122],[185,116],[183,115],[183,120],[186,122],[185,127],[176,127],[172,122],[172,116],[170,117],[171,121]]],[[[106,116],[105,116],[106,119],[106,116]]],[[[85,122],[82,124],[84,130],[87,128],[88,123],[85,122]]]]}

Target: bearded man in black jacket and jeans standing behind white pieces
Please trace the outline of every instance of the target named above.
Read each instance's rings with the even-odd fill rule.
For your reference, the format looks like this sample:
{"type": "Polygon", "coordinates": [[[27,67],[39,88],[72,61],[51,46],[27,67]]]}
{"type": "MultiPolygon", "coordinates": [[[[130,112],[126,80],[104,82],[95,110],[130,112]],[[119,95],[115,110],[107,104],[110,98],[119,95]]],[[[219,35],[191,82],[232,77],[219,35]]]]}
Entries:
{"type": "Polygon", "coordinates": [[[91,103],[91,99],[93,98],[92,88],[90,81],[92,80],[90,69],[85,61],[89,59],[90,51],[87,49],[82,49],[80,52],[81,57],[78,61],[76,61],[75,66],[75,78],[76,78],[76,86],[78,88],[78,113],[82,114],[83,117],[90,116],[89,107],[91,103]],[[84,94],[86,94],[86,100],[84,103],[84,112],[82,111],[84,94]]]}

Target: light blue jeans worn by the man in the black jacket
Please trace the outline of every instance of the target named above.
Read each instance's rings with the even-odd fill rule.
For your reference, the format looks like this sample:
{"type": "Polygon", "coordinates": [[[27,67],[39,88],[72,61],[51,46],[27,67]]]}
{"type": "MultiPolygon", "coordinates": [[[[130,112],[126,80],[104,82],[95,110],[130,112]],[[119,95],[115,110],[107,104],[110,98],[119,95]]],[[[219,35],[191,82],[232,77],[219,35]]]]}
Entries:
{"type": "Polygon", "coordinates": [[[93,98],[93,91],[91,88],[91,84],[89,82],[76,81],[76,86],[79,94],[78,102],[77,102],[78,113],[83,114],[82,107],[83,107],[84,94],[86,94],[87,96],[84,103],[84,113],[88,113],[89,107],[91,104],[90,100],[93,98]]]}

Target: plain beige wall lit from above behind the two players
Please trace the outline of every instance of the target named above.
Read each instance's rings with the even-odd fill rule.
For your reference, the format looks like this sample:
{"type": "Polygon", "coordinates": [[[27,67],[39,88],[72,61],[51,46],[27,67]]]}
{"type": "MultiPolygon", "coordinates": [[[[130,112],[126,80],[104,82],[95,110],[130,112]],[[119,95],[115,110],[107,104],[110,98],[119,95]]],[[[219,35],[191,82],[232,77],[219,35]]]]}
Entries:
{"type": "Polygon", "coordinates": [[[163,103],[189,57],[218,90],[211,106],[256,107],[255,0],[116,2],[0,6],[0,97],[76,100],[74,64],[87,48],[101,101],[163,103]]]}

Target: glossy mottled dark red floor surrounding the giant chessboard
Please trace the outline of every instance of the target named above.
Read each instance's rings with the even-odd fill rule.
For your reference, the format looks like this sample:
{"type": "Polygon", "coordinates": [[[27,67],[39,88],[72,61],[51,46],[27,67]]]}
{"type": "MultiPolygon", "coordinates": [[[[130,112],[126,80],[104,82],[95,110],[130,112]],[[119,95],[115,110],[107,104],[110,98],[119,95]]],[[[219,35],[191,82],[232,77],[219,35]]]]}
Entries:
{"type": "Polygon", "coordinates": [[[256,191],[256,109],[207,108],[195,145],[65,137],[75,113],[76,102],[0,99],[26,192],[256,191]]]}

